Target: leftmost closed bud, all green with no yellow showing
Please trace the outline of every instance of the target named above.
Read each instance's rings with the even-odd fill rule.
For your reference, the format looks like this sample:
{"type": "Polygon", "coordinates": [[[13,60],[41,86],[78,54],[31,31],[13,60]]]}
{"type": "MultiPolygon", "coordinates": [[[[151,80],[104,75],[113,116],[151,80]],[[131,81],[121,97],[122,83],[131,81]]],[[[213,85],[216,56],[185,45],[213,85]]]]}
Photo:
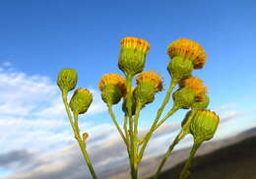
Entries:
{"type": "Polygon", "coordinates": [[[68,92],[77,86],[78,74],[73,69],[62,69],[57,77],[57,86],[62,92],[68,92]]]}

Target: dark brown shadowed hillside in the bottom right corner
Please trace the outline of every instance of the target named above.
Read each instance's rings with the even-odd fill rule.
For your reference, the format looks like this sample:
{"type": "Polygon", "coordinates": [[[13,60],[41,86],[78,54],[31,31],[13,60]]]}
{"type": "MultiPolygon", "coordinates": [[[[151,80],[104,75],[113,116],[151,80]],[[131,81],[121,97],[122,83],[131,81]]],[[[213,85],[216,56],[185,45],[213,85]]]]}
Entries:
{"type": "MultiPolygon", "coordinates": [[[[184,162],[163,172],[160,179],[178,179],[184,162]]],[[[191,179],[256,179],[256,137],[197,156],[191,179]]]]}

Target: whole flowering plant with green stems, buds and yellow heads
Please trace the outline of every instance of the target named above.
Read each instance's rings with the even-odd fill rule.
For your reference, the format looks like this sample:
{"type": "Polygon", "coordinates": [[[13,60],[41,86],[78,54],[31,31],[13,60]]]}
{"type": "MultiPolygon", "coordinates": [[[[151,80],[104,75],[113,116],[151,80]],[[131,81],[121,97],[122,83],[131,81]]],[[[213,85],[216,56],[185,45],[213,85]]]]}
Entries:
{"type": "MultiPolygon", "coordinates": [[[[101,98],[106,103],[113,124],[126,146],[132,179],[138,178],[139,164],[153,133],[177,110],[191,109],[181,123],[180,132],[161,159],[155,175],[155,179],[157,179],[162,166],[175,145],[186,135],[191,134],[194,137],[194,145],[180,174],[180,179],[185,179],[189,176],[192,158],[196,150],[204,141],[211,140],[214,137],[219,125],[219,116],[215,112],[207,110],[210,101],[207,95],[207,88],[204,87],[202,80],[192,76],[193,69],[203,68],[207,56],[202,46],[191,39],[179,38],[170,43],[167,48],[167,53],[170,57],[167,65],[167,71],[171,77],[169,88],[150,130],[144,137],[139,139],[138,121],[140,111],[147,104],[152,103],[155,100],[156,93],[162,90],[160,75],[154,71],[144,71],[149,50],[150,44],[144,39],[137,37],[123,38],[121,40],[118,67],[124,73],[125,78],[118,74],[105,74],[102,76],[98,88],[101,91],[101,98]],[[136,78],[135,88],[132,87],[134,78],[136,78]],[[177,85],[179,88],[172,93],[172,90],[177,85]],[[171,93],[173,98],[172,108],[160,119],[165,105],[169,102],[171,93]],[[124,112],[123,128],[117,123],[112,110],[112,105],[117,104],[121,99],[123,99],[122,110],[124,112]]],[[[93,178],[96,179],[96,172],[87,152],[86,139],[88,134],[81,135],[78,124],[79,115],[87,112],[93,101],[93,95],[88,89],[76,89],[71,100],[69,102],[67,100],[68,92],[76,88],[77,81],[78,75],[75,70],[62,69],[57,78],[57,85],[61,90],[75,139],[79,143],[93,178]]]]}

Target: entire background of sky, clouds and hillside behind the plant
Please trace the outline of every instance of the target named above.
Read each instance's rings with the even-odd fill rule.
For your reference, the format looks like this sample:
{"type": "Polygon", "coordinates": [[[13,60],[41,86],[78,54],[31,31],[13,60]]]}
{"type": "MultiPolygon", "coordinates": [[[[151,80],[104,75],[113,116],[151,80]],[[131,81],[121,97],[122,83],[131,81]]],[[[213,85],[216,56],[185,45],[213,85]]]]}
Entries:
{"type": "MultiPolygon", "coordinates": [[[[193,39],[208,55],[205,67],[193,74],[208,87],[209,108],[221,124],[198,150],[191,178],[255,179],[255,17],[255,0],[0,1],[0,179],[91,177],[56,87],[62,68],[74,68],[78,87],[94,93],[80,127],[90,135],[88,150],[99,178],[129,178],[124,144],[97,88],[103,74],[122,75],[117,60],[125,36],[149,41],[145,70],[154,69],[164,81],[165,90],[142,110],[140,132],[151,127],[170,82],[168,44],[193,39]]],[[[122,125],[121,104],[114,111],[122,125]]],[[[186,112],[178,111],[153,136],[141,178],[156,172],[186,112]]],[[[192,141],[188,136],[176,146],[161,178],[178,178],[192,141]]]]}

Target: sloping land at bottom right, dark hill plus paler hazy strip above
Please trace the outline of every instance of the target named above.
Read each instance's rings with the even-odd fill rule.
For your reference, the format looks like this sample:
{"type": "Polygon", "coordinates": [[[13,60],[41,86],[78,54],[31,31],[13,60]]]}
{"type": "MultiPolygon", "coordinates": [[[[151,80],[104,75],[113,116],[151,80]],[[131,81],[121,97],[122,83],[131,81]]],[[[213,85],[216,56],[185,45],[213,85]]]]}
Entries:
{"type": "MultiPolygon", "coordinates": [[[[190,149],[174,151],[159,179],[178,179],[190,149]]],[[[146,159],[140,166],[140,178],[152,179],[160,156],[146,159]]],[[[100,178],[129,179],[127,166],[106,171],[100,178]]],[[[256,128],[230,139],[204,144],[194,158],[190,179],[256,179],[256,128]]]]}

